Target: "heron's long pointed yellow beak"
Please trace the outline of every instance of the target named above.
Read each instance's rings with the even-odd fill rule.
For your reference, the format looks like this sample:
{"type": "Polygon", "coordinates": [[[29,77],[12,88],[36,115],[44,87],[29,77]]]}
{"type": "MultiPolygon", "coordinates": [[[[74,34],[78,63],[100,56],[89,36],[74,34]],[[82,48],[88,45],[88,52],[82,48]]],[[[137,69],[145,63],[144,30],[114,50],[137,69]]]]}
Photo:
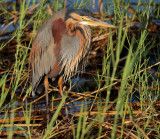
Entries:
{"type": "Polygon", "coordinates": [[[103,21],[98,20],[98,19],[93,18],[93,17],[81,16],[81,18],[82,18],[82,21],[79,22],[79,24],[82,24],[82,25],[116,28],[116,26],[114,26],[114,25],[103,22],[103,21]]]}

